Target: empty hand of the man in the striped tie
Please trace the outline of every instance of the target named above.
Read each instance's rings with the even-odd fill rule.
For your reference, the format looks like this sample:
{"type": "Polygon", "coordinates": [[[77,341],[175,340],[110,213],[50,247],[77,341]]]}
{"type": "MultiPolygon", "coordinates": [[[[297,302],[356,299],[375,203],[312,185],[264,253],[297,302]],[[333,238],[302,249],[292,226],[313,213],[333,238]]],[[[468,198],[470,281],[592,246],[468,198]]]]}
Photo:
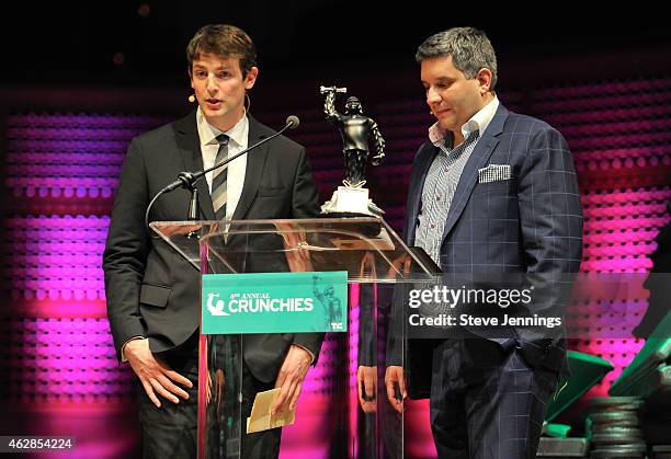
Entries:
{"type": "Polygon", "coordinates": [[[156,393],[170,400],[172,403],[179,403],[180,395],[182,399],[189,399],[189,394],[183,389],[174,385],[178,382],[187,388],[192,388],[193,383],[177,371],[171,370],[168,366],[156,359],[151,351],[149,351],[149,340],[133,340],[126,343],[124,354],[137,375],[145,392],[153,404],[161,408],[156,393]],[[173,382],[174,381],[174,382],[173,382]]]}

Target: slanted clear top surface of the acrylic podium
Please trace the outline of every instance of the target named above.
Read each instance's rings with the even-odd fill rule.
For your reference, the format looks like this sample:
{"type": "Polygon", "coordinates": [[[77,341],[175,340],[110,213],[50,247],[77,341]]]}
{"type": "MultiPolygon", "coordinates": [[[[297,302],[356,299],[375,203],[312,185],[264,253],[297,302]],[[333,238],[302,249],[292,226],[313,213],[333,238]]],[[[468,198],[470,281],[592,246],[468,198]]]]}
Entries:
{"type": "Polygon", "coordinates": [[[431,266],[378,218],[155,221],[202,273],[346,271],[351,283],[431,282],[431,266]]]}

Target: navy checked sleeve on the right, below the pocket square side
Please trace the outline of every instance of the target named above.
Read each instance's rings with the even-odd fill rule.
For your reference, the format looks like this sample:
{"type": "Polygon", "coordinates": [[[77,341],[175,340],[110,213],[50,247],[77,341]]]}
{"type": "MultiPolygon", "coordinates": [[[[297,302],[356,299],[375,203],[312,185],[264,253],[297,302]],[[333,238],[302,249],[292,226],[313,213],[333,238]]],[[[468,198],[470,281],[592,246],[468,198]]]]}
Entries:
{"type": "MultiPolygon", "coordinates": [[[[531,138],[518,196],[522,249],[535,289],[530,312],[561,317],[582,256],[582,207],[573,158],[556,129],[545,126],[531,138]]],[[[532,362],[561,333],[561,328],[519,330],[522,347],[539,354],[530,356],[532,362]]]]}

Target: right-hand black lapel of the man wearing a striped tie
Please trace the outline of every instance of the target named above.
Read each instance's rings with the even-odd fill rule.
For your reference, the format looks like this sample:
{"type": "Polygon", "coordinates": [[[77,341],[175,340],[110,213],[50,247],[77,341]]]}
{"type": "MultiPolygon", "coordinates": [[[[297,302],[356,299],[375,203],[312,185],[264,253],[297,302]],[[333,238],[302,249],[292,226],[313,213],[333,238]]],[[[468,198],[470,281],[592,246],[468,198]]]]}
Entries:
{"type": "MultiPolygon", "coordinates": [[[[257,144],[258,141],[269,136],[266,129],[255,121],[251,115],[249,116],[249,137],[248,148],[257,144]]],[[[263,168],[265,165],[265,159],[269,153],[269,144],[263,144],[260,147],[254,148],[247,153],[247,167],[244,168],[244,184],[242,185],[242,194],[240,200],[234,211],[232,219],[241,220],[247,215],[247,210],[254,202],[259,187],[261,186],[261,177],[263,176],[263,168]]],[[[212,205],[212,204],[211,204],[212,205]]]]}

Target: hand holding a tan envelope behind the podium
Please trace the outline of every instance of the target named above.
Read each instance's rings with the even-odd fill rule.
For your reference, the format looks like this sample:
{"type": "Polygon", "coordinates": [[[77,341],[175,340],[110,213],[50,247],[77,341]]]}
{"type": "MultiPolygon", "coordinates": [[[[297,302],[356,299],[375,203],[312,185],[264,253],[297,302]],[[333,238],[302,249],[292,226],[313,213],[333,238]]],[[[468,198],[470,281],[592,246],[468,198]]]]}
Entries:
{"type": "Polygon", "coordinates": [[[280,395],[271,408],[271,415],[274,416],[278,411],[294,410],[296,408],[296,401],[300,394],[300,387],[307,370],[312,363],[310,353],[300,346],[289,346],[280,374],[277,375],[277,381],[275,388],[281,388],[280,395]]]}

